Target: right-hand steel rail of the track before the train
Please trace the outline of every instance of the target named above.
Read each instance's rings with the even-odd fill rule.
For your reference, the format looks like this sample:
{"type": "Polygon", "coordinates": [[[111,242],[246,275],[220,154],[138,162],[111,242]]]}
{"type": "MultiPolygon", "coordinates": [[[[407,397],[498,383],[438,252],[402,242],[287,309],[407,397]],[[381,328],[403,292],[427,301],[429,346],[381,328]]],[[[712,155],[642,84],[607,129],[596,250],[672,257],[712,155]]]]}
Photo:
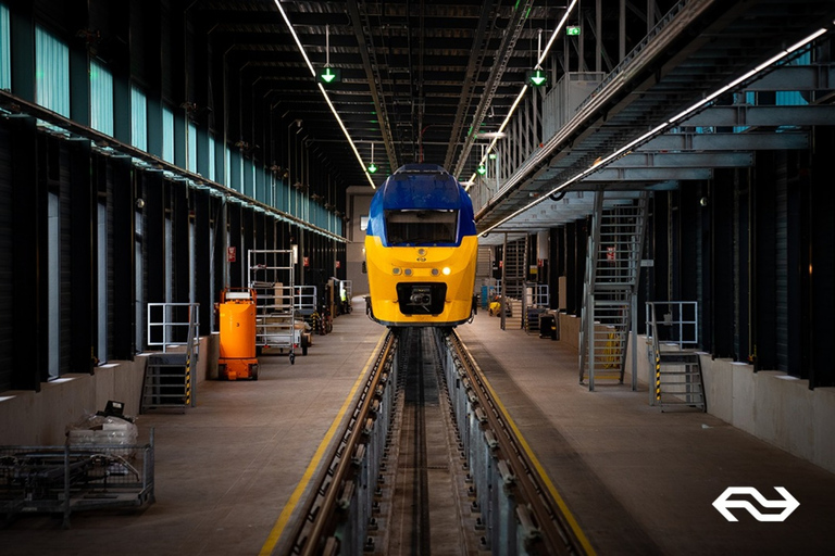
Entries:
{"type": "Polygon", "coordinates": [[[503,410],[494,401],[486,379],[466,346],[454,331],[447,339],[453,357],[470,382],[469,389],[477,399],[474,413],[487,428],[485,434],[490,432],[493,455],[497,458],[506,488],[513,493],[516,502],[516,519],[525,531],[528,553],[585,554],[568,516],[553,500],[521,439],[508,425],[503,410]]]}

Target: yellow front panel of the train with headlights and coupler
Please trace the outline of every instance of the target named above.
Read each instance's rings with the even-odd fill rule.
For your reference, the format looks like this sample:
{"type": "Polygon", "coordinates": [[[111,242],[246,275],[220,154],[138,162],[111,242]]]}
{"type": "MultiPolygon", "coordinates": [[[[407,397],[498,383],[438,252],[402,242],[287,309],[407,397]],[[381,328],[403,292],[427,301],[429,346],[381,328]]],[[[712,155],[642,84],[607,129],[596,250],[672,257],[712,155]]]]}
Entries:
{"type": "Polygon", "coordinates": [[[456,326],[473,309],[478,241],[461,238],[460,247],[383,245],[365,238],[371,289],[371,317],[386,326],[456,326]]]}

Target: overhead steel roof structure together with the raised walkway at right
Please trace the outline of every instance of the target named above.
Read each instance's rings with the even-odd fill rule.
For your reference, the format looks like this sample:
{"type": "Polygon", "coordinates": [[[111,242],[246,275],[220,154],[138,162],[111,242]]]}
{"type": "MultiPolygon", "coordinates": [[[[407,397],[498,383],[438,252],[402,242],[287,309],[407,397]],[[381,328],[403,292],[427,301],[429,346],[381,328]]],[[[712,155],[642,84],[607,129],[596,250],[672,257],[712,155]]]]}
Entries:
{"type": "Polygon", "coordinates": [[[590,214],[578,191],[674,189],[750,166],[835,117],[821,46],[835,8],[822,0],[216,0],[185,17],[223,52],[227,137],[263,144],[270,164],[286,142],[276,122],[289,123],[345,186],[443,164],[471,184],[482,232],[590,214]],[[316,83],[325,65],[341,78],[316,83]],[[525,80],[536,66],[544,87],[525,80]]]}

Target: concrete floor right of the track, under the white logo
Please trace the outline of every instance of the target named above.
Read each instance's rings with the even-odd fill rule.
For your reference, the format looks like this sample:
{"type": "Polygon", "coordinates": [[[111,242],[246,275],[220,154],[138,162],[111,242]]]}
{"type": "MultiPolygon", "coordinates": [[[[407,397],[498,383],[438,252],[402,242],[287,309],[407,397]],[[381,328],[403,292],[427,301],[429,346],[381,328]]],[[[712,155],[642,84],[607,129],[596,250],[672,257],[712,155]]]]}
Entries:
{"type": "Polygon", "coordinates": [[[589,392],[574,348],[499,323],[479,312],[458,330],[598,554],[835,549],[835,475],[711,415],[662,413],[646,384],[632,391],[628,375],[589,392]],[[784,522],[745,509],[730,522],[712,506],[728,486],[768,500],[782,498],[774,486],[783,486],[800,506],[784,522]]]}

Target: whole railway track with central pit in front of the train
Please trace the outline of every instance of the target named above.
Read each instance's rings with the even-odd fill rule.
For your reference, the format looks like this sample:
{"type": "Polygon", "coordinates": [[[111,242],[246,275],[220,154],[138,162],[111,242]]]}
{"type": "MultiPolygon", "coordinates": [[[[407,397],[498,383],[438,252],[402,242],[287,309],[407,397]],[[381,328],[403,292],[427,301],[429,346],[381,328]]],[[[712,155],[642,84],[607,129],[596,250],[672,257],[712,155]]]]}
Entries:
{"type": "Polygon", "coordinates": [[[292,554],[586,553],[454,331],[389,332],[338,438],[292,554]]]}

